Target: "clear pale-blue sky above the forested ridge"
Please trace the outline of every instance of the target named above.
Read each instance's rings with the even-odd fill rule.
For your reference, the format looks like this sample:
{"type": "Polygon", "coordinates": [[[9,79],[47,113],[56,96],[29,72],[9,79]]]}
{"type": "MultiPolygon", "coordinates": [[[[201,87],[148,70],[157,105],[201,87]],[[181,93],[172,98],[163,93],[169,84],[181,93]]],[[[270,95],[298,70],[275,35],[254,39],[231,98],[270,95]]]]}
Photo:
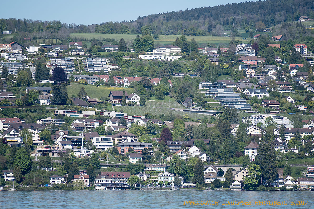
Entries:
{"type": "Polygon", "coordinates": [[[240,0],[180,0],[180,1],[102,1],[102,0],[55,0],[55,1],[3,1],[0,18],[60,20],[62,23],[93,24],[107,21],[135,20],[139,16],[179,11],[219,4],[244,2],[240,0]],[[15,12],[16,11],[16,12],[15,12]]]}

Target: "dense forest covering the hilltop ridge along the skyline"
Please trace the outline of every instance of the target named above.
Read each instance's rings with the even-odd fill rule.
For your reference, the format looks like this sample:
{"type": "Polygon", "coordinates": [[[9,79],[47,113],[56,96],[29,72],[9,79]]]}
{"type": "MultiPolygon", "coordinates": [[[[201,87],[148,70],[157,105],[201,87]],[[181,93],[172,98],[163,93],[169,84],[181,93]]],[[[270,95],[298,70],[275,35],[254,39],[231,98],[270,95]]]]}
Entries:
{"type": "MultiPolygon", "coordinates": [[[[138,17],[136,20],[77,25],[60,21],[0,19],[0,33],[11,30],[20,37],[66,41],[71,33],[135,34],[149,25],[152,34],[221,35],[223,30],[259,30],[284,22],[298,21],[300,16],[314,18],[311,0],[267,0],[233,3],[215,7],[187,9],[138,17]]],[[[18,37],[17,37],[18,38],[18,37]]]]}

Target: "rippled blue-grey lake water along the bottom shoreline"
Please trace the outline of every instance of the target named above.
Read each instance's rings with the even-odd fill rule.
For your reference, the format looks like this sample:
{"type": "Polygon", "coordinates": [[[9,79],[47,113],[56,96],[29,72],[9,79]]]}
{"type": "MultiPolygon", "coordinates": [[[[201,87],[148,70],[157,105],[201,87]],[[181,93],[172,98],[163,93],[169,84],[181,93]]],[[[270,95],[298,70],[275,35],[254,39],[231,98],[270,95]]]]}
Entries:
{"type": "Polygon", "coordinates": [[[3,209],[15,208],[313,209],[314,208],[313,197],[314,192],[310,191],[0,191],[0,208],[1,209],[2,208],[3,209]],[[236,205],[225,205],[228,203],[228,200],[235,201],[234,204],[236,205]],[[194,201],[194,204],[188,205],[188,203],[184,201],[194,201]],[[195,201],[198,201],[196,205],[195,201]],[[238,204],[237,201],[240,202],[243,201],[242,204],[250,203],[250,205],[237,205],[238,204]],[[279,201],[279,204],[281,203],[286,205],[257,205],[258,202],[256,201],[261,201],[260,204],[263,204],[262,201],[265,202],[270,201],[270,204],[274,204],[275,202],[273,201],[279,201]],[[304,205],[291,205],[292,201],[294,201],[294,203],[298,203],[297,201],[299,201],[299,203],[304,205]],[[185,203],[186,205],[184,205],[185,203]],[[207,205],[208,203],[210,205],[207,205]]]}

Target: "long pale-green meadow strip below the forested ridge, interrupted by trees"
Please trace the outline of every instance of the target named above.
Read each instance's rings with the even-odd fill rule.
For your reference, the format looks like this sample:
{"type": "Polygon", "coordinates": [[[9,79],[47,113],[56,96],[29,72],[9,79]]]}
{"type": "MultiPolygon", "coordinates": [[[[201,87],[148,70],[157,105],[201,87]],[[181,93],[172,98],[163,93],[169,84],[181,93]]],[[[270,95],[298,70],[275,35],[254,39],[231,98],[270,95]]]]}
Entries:
{"type": "MultiPolygon", "coordinates": [[[[86,40],[91,40],[93,38],[95,39],[103,39],[103,38],[111,38],[120,40],[123,38],[126,42],[130,42],[135,39],[137,35],[142,34],[71,34],[70,36],[72,38],[84,38],[86,40]]],[[[159,35],[159,39],[154,39],[155,44],[159,45],[166,45],[171,44],[176,40],[176,37],[179,37],[178,35],[159,35]]],[[[230,42],[229,37],[216,37],[216,36],[185,36],[188,41],[191,41],[192,38],[198,42],[198,44],[208,44],[213,43],[216,45],[219,44],[228,44],[230,42]]],[[[236,40],[242,40],[242,38],[236,38],[236,40]]]]}

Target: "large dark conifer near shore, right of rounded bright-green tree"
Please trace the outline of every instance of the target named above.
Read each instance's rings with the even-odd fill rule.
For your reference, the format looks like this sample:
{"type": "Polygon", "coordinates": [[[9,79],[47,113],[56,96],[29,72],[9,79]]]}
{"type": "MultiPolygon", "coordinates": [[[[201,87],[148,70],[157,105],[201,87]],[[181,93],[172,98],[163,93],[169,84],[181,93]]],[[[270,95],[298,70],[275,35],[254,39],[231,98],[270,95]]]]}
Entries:
{"type": "Polygon", "coordinates": [[[264,181],[268,186],[271,186],[270,184],[276,180],[277,160],[275,150],[269,143],[264,140],[261,141],[254,162],[262,169],[262,182],[264,181]]]}

